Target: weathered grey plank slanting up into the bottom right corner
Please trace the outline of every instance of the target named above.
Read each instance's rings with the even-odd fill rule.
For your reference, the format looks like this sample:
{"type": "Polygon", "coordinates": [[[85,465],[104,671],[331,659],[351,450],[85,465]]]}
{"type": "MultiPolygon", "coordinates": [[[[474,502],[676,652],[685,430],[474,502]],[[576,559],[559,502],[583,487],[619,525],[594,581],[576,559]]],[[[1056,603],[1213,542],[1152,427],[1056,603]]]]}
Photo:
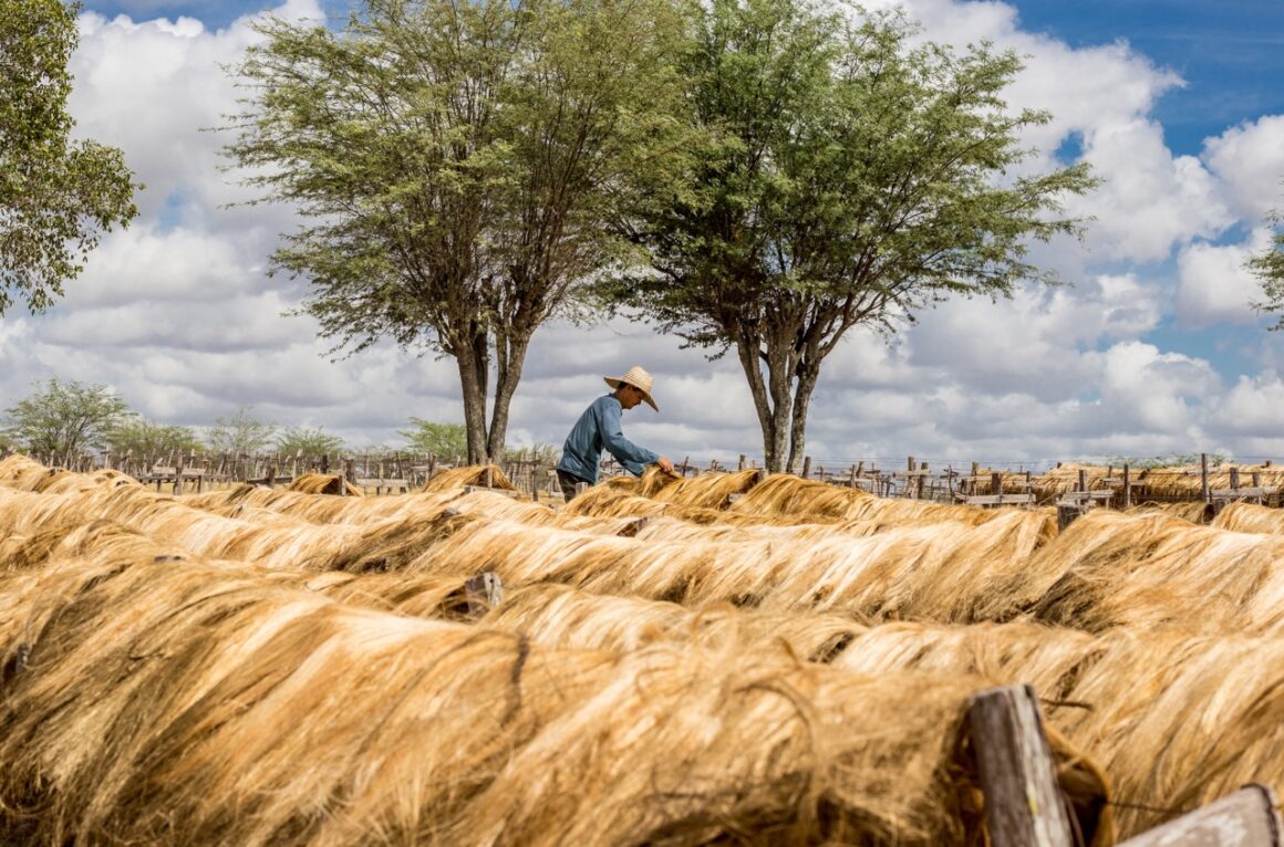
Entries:
{"type": "Polygon", "coordinates": [[[1279,847],[1284,824],[1276,805],[1274,791],[1249,783],[1118,847],[1279,847]]]}

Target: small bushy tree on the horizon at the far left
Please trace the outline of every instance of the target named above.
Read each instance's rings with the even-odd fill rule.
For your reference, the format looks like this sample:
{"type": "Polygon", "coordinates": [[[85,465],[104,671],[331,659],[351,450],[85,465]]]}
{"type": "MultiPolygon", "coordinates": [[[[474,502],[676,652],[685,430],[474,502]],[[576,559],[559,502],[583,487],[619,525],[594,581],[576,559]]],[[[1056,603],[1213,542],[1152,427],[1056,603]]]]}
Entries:
{"type": "Polygon", "coordinates": [[[44,388],[5,412],[5,436],[33,456],[63,461],[101,449],[134,412],[105,385],[50,377],[44,388]]]}

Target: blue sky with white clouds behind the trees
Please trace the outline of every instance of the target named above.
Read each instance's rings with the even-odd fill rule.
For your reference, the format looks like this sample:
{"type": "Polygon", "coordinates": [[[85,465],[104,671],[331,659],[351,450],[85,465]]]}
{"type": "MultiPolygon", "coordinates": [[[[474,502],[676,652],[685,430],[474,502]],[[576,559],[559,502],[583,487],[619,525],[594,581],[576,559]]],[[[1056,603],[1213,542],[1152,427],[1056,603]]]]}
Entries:
{"type": "MultiPolygon", "coordinates": [[[[1248,308],[1244,259],[1284,207],[1284,3],[867,0],[903,5],[924,37],[1026,56],[1009,91],[1054,119],[1031,168],[1082,158],[1104,180],[1072,212],[1082,243],[1034,258],[1068,284],[1011,302],[951,302],[894,344],[856,334],[831,357],[809,425],[818,462],[914,454],[935,465],[1216,452],[1284,458],[1284,334],[1248,308]]],[[[86,0],[72,112],[148,184],[139,219],[104,239],[49,314],[0,322],[4,398],[48,376],[108,384],[154,421],[200,426],[252,406],[281,425],[395,444],[411,416],[462,417],[449,362],[390,346],[331,362],[284,317],[300,282],[268,278],[282,208],[220,172],[235,108],[222,71],[256,36],[247,14],[343,14],[324,0],[86,0]],[[119,17],[118,17],[119,15],[119,17]],[[180,21],[180,17],[186,18],[180,21]]],[[[560,444],[601,377],[641,363],[663,415],[627,431],[670,456],[758,456],[734,357],[706,362],[645,325],[541,330],[511,440],[560,444]]],[[[10,402],[4,406],[12,404],[10,402]]]]}

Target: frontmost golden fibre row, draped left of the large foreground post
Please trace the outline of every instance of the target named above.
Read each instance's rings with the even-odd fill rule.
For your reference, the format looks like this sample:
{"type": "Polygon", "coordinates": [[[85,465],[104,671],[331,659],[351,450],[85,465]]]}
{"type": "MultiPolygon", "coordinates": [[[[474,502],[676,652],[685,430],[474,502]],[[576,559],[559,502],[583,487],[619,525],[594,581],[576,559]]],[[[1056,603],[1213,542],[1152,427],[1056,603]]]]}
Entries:
{"type": "Polygon", "coordinates": [[[976,678],[552,651],[195,562],[0,588],[21,597],[0,621],[0,803],[32,841],[977,837],[950,766],[976,678]]]}

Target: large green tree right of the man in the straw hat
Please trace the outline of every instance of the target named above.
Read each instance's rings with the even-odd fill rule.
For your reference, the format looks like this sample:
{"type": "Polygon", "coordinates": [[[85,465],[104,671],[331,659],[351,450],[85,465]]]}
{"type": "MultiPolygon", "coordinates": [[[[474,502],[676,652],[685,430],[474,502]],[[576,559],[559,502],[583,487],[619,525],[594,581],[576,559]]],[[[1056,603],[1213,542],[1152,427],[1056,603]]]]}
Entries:
{"type": "Polygon", "coordinates": [[[1077,232],[1049,217],[1093,185],[1086,167],[1007,176],[1019,132],[1011,53],[913,47],[898,15],[819,13],[804,0],[711,0],[683,56],[696,121],[714,140],[695,199],[620,222],[647,272],[605,296],[711,357],[734,349],[768,468],[797,470],[820,366],[865,325],[890,332],[953,294],[1050,281],[1031,239],[1077,232]]]}

